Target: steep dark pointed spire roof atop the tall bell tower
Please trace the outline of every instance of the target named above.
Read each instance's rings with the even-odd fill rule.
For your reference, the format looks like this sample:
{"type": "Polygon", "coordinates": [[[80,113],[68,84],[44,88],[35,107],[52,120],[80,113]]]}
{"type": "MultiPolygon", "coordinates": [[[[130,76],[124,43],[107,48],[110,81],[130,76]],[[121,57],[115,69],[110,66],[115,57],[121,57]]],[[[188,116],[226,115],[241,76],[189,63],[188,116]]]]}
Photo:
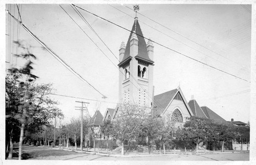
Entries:
{"type": "MultiPolygon", "coordinates": [[[[143,38],[143,34],[142,34],[141,29],[140,29],[140,24],[139,24],[138,20],[134,21],[132,32],[134,32],[134,31],[135,31],[136,36],[138,38],[138,55],[135,58],[141,59],[141,60],[146,61],[148,63],[154,63],[148,57],[147,48],[146,48],[146,42],[145,42],[145,40],[143,38]]],[[[130,42],[131,42],[131,37],[133,35],[132,32],[130,33],[129,39],[127,41],[127,44],[126,44],[126,47],[125,47],[125,51],[124,51],[123,59],[119,63],[119,65],[121,63],[123,63],[125,60],[131,58],[131,56],[130,56],[130,42]]]]}

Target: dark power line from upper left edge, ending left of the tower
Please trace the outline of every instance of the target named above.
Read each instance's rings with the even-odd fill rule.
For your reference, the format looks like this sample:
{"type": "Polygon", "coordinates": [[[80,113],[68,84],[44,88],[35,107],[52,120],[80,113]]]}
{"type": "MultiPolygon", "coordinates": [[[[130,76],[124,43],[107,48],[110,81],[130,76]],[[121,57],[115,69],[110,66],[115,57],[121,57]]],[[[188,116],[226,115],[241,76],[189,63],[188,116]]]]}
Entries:
{"type": "MultiPolygon", "coordinates": [[[[9,15],[12,16],[12,18],[17,21],[20,25],[22,25],[22,27],[32,36],[36,39],[36,41],[38,43],[40,43],[42,46],[44,46],[46,48],[46,50],[48,52],[50,52],[50,54],[55,58],[55,59],[58,59],[58,61],[60,60],[61,61],[61,64],[63,66],[65,66],[66,68],[69,68],[70,71],[72,71],[72,73],[75,75],[75,76],[78,76],[80,77],[83,81],[87,82],[87,84],[92,87],[95,91],[97,91],[99,94],[101,94],[103,96],[103,98],[106,98],[105,95],[103,95],[100,91],[98,91],[93,85],[90,84],[90,82],[88,82],[86,79],[84,79],[80,74],[78,74],[72,67],[70,67],[65,61],[63,61],[51,48],[49,48],[44,42],[42,42],[38,37],[36,37],[21,21],[18,21],[8,10],[6,10],[9,15]]],[[[59,61],[59,62],[60,62],[59,61]]]]}

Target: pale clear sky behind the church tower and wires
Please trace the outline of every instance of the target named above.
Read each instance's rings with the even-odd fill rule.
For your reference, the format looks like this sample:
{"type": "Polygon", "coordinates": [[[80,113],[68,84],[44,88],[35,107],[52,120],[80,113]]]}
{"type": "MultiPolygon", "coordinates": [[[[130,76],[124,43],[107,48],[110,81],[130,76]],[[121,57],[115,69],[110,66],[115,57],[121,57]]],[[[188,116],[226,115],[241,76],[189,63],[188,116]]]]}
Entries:
{"type": "MultiPolygon", "coordinates": [[[[135,12],[131,10],[133,5],[77,4],[128,30],[132,29],[134,23],[135,12]]],[[[12,54],[22,51],[16,48],[12,40],[19,39],[25,45],[32,46],[31,51],[37,57],[33,61],[33,73],[39,77],[36,83],[52,83],[56,94],[77,97],[51,95],[51,98],[59,102],[58,107],[65,115],[62,123],[69,122],[72,117],[80,117],[80,112],[75,110],[75,106],[81,105],[75,102],[82,101],[79,98],[91,99],[83,100],[90,102],[90,116],[93,116],[96,109],[104,115],[107,107],[115,108],[118,102],[117,59],[121,42],[126,44],[130,32],[79,10],[114,53],[114,57],[70,5],[61,7],[105,55],[59,5],[22,4],[19,10],[27,28],[107,98],[103,99],[102,95],[72,74],[48,51],[41,49],[40,44],[22,27],[19,28],[8,14],[6,61],[15,66],[16,59],[12,58],[12,54]]],[[[209,107],[225,120],[233,118],[234,121],[247,123],[250,117],[248,81],[251,68],[251,6],[140,4],[139,7],[142,15],[138,14],[138,21],[144,37],[247,80],[213,69],[154,43],[155,95],[180,86],[187,102],[194,95],[200,106],[209,107]]],[[[18,17],[14,4],[6,5],[6,9],[18,17]]],[[[8,67],[9,63],[6,65],[8,67]]],[[[16,66],[22,65],[22,61],[17,59],[16,66]]]]}

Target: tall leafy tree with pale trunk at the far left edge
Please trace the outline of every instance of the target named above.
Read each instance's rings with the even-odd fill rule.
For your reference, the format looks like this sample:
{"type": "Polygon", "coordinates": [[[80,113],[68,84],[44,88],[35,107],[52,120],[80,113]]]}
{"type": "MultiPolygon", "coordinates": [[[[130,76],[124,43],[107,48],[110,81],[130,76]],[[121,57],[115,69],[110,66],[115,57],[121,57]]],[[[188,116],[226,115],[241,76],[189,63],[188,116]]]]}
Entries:
{"type": "Polygon", "coordinates": [[[47,96],[51,92],[51,85],[35,85],[33,83],[38,77],[32,74],[33,62],[31,60],[36,57],[31,53],[31,46],[26,47],[16,41],[15,43],[24,50],[16,56],[22,58],[25,65],[21,68],[9,69],[10,74],[6,76],[6,128],[9,129],[10,143],[12,143],[13,126],[19,127],[18,158],[21,159],[25,129],[34,131],[36,130],[34,128],[39,129],[39,125],[49,123],[52,116],[63,115],[59,109],[53,107],[56,102],[47,96]]]}

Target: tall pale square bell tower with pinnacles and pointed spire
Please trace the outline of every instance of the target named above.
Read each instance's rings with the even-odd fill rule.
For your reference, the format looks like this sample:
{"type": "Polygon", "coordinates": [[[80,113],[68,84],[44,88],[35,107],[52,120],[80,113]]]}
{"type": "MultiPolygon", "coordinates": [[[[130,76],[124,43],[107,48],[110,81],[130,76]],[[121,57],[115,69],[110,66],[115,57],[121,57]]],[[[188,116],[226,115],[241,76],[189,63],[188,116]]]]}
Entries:
{"type": "Polygon", "coordinates": [[[153,93],[154,46],[143,37],[137,18],[139,6],[134,6],[136,17],[125,45],[119,49],[119,103],[151,107],[153,93]]]}

